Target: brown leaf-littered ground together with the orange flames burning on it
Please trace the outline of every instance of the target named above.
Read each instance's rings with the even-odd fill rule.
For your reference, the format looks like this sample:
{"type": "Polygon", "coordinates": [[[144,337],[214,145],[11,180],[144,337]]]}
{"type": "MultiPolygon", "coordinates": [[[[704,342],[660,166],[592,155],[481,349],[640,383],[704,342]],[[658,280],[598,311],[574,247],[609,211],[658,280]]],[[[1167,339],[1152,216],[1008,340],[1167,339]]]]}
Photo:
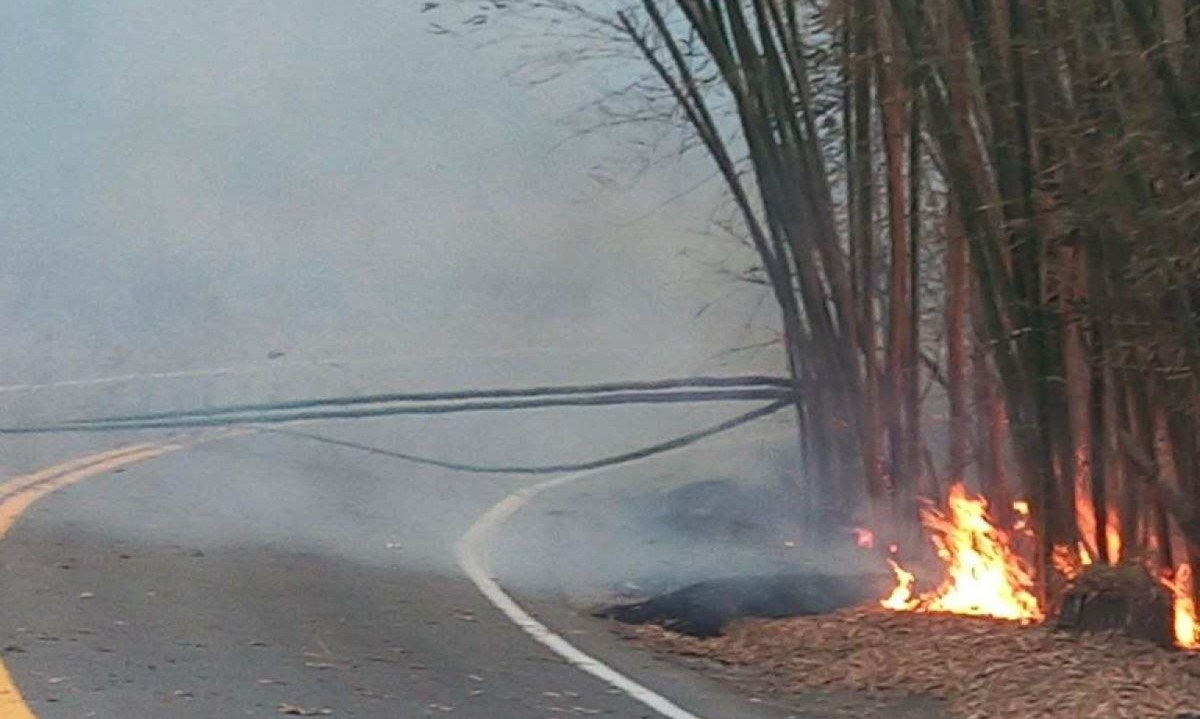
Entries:
{"type": "MultiPolygon", "coordinates": [[[[952,489],[944,509],[928,505],[922,519],[943,570],[928,592],[917,592],[913,574],[893,561],[896,585],[881,606],[748,619],[709,640],[653,627],[631,633],[660,649],[745,667],[740,683],[760,682],[748,687],[760,694],[928,696],[971,719],[1169,719],[1200,709],[1200,653],[1165,648],[1172,628],[1184,648],[1200,639],[1190,570],[1184,565],[1158,576],[1136,564],[1096,565],[1084,546],[1056,551],[1058,570],[1072,581],[1070,597],[1115,604],[1099,601],[1099,613],[1081,616],[1079,625],[1093,631],[1055,630],[1043,624],[1046,611],[1034,597],[1033,573],[1013,541],[1028,533],[1028,508],[1016,503],[1013,509],[1013,527],[997,527],[986,502],[961,485],[952,489]],[[1105,613],[1109,605],[1117,611],[1105,613]],[[1108,631],[1115,625],[1128,631],[1156,617],[1162,623],[1152,634],[1162,646],[1108,631]]],[[[869,532],[859,534],[859,546],[872,544],[869,532]]],[[[1117,556],[1117,547],[1108,549],[1117,556]]]]}

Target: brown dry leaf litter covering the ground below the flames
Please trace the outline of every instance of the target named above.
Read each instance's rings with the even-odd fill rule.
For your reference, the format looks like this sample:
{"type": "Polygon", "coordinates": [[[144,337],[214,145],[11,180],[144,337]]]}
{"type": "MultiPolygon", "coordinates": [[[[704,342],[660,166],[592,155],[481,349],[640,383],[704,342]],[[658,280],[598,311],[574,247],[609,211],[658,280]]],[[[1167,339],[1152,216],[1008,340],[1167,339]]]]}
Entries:
{"type": "MultiPolygon", "coordinates": [[[[1114,635],[882,607],[745,619],[707,640],[658,627],[620,631],[779,703],[788,695],[862,693],[878,697],[880,706],[932,700],[930,711],[941,706],[944,715],[961,719],[1154,719],[1200,712],[1200,653],[1114,635]]],[[[829,715],[851,715],[835,705],[829,715]]]]}

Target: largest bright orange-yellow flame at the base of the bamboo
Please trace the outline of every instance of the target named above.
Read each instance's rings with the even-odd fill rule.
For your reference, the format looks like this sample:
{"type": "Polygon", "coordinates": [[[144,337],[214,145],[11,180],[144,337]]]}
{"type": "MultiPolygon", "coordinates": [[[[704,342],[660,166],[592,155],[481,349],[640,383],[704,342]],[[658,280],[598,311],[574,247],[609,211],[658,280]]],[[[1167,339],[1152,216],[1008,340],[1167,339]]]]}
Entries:
{"type": "Polygon", "coordinates": [[[968,497],[959,484],[950,489],[948,511],[922,510],[946,580],[934,592],[912,597],[912,575],[893,563],[896,588],[884,606],[902,611],[947,612],[1019,622],[1042,618],[1033,579],[1009,546],[1008,534],[988,516],[988,502],[968,497]]]}

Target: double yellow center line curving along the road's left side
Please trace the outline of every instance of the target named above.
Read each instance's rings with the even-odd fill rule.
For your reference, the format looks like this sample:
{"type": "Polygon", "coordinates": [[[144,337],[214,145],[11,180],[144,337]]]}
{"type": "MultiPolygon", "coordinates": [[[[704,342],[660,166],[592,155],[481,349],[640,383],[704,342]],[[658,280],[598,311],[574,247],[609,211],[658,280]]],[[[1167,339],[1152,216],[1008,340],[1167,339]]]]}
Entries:
{"type": "MultiPolygon", "coordinates": [[[[229,435],[222,433],[211,439],[229,435]]],[[[143,462],[184,447],[182,444],[136,444],[78,457],[30,474],[14,477],[0,484],[0,538],[8,533],[8,529],[35,502],[50,492],[89,477],[143,462]]],[[[4,661],[0,661],[0,719],[37,719],[34,711],[25,703],[25,699],[17,689],[17,684],[4,661]]]]}

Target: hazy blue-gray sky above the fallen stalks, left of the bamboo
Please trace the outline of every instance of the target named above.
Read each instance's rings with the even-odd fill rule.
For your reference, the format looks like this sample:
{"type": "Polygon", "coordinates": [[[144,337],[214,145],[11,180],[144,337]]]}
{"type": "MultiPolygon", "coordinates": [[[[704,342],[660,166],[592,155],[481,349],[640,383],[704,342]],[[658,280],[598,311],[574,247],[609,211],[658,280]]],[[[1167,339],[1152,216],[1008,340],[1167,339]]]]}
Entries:
{"type": "Polygon", "coordinates": [[[0,4],[0,377],[752,338],[702,158],[598,193],[586,92],[418,10],[0,4]]]}

